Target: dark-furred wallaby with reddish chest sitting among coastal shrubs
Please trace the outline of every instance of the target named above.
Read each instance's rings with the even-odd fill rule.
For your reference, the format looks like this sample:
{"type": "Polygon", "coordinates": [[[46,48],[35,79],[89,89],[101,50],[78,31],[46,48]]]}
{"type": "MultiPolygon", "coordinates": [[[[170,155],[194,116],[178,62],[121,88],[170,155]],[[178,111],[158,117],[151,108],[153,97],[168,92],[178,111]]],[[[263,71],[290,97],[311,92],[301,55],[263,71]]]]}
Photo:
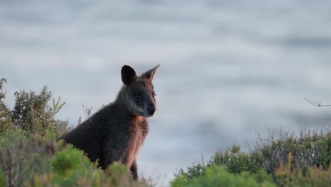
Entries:
{"type": "Polygon", "coordinates": [[[149,131],[146,118],[156,111],[153,69],[137,77],[132,67],[121,69],[124,86],[113,103],[101,108],[86,121],[62,137],[65,142],[82,149],[91,162],[98,160],[102,169],[112,162],[122,162],[137,180],[136,157],[149,131]]]}

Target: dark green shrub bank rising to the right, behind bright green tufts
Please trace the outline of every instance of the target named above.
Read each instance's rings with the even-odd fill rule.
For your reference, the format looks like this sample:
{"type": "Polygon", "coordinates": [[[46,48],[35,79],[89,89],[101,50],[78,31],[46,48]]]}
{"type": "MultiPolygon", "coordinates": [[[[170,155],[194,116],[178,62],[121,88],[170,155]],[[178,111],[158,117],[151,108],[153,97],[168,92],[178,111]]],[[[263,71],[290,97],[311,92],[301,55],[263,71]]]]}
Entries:
{"type": "Polygon", "coordinates": [[[327,170],[331,159],[331,132],[326,128],[313,132],[302,130],[298,137],[294,133],[281,132],[278,140],[273,135],[267,139],[258,137],[257,140],[255,149],[250,149],[250,152],[242,152],[240,146],[233,145],[224,151],[217,151],[207,164],[195,163],[187,171],[180,169],[175,174],[175,181],[197,179],[205,176],[209,168],[224,166],[229,174],[250,176],[257,183],[271,178],[281,186],[308,185],[313,181],[320,181],[321,186],[331,184],[330,169],[327,170]],[[291,169],[282,169],[283,164],[289,165],[291,169]],[[261,171],[267,174],[262,175],[262,179],[259,178],[261,171]],[[317,178],[316,173],[320,174],[320,178],[317,178]]]}

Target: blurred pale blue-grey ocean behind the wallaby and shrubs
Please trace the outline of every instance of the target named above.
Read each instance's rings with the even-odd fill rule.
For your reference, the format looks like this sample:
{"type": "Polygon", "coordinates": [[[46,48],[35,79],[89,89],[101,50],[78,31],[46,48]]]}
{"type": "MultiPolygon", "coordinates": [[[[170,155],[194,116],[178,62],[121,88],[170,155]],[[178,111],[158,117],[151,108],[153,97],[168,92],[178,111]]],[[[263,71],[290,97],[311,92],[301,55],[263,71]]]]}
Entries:
{"type": "Polygon", "coordinates": [[[0,77],[50,87],[76,125],[115,99],[120,68],[154,78],[158,110],[138,159],[162,186],[176,169],[256,133],[331,124],[331,1],[0,1],[0,77]],[[329,98],[327,98],[329,97],[329,98]]]}

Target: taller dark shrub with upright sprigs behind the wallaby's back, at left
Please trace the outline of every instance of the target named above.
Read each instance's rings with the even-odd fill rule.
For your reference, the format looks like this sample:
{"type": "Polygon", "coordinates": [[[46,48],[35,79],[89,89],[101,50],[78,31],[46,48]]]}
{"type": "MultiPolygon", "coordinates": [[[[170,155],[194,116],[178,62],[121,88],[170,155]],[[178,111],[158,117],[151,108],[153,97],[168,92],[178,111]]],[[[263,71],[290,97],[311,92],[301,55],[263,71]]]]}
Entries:
{"type": "Polygon", "coordinates": [[[52,99],[52,105],[48,103],[52,98],[52,92],[44,86],[39,94],[34,91],[16,91],[15,104],[11,110],[4,103],[4,83],[6,79],[0,80],[0,132],[21,128],[32,132],[45,133],[52,131],[58,135],[66,132],[67,121],[56,120],[56,115],[65,102],[61,102],[59,97],[57,101],[52,99]]]}

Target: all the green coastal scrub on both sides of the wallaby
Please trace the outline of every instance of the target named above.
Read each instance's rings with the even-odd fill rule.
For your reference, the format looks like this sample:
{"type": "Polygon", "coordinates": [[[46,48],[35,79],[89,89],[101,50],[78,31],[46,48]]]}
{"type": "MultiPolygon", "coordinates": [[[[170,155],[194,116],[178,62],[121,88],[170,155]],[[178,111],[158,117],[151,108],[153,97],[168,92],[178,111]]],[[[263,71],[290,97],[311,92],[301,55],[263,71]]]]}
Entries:
{"type": "MultiPolygon", "coordinates": [[[[59,139],[70,128],[55,115],[65,106],[47,86],[17,91],[13,108],[0,81],[0,186],[154,186],[133,181],[127,167],[105,171],[59,139]]],[[[199,155],[197,155],[199,157],[199,155]]],[[[326,126],[257,137],[255,147],[232,145],[207,161],[174,171],[170,186],[331,186],[331,131],[326,126]]]]}

